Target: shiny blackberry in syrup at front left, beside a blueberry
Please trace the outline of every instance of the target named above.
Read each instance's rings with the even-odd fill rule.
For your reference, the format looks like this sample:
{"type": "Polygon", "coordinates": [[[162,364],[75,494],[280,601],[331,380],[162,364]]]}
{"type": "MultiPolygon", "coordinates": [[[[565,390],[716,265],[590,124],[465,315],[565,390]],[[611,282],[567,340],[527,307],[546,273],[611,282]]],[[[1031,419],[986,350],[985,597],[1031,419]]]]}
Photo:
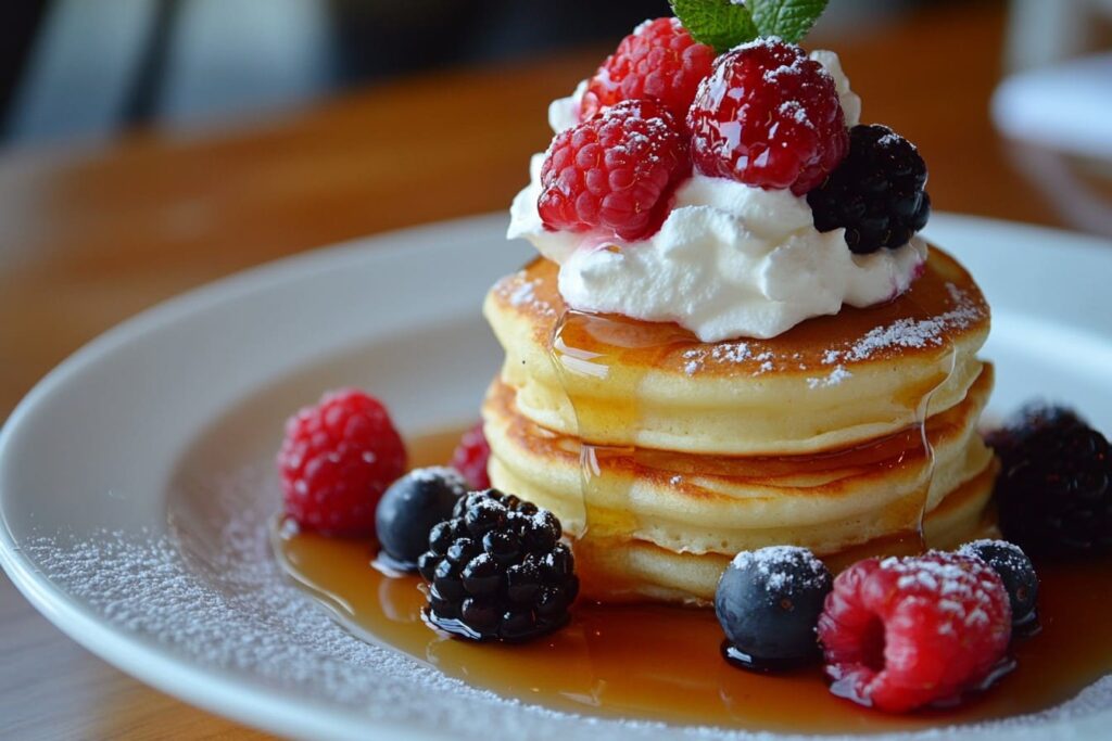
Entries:
{"type": "Polygon", "coordinates": [[[426,620],[477,641],[525,641],[560,628],[579,591],[562,533],[556,515],[513,494],[467,494],[417,560],[429,583],[426,620]]]}

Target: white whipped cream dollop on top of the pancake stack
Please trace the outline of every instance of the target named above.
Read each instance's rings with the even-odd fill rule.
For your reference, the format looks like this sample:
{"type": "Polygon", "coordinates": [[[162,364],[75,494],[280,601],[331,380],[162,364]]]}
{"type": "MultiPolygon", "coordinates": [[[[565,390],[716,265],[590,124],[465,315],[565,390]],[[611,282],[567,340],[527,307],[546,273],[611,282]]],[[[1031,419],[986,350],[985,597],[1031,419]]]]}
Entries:
{"type": "MultiPolygon", "coordinates": [[[[837,54],[811,54],[834,77],[846,124],[861,99],[837,54]]],[[[554,101],[557,132],[578,122],[584,83],[554,101]]],[[[903,293],[919,277],[927,247],[917,237],[898,249],[854,254],[845,230],[815,229],[806,198],[695,173],[676,190],[672,211],[652,237],[623,241],[590,232],[553,231],[537,212],[540,168],[510,207],[510,239],[525,238],[559,263],[559,292],[580,311],[672,321],[704,342],[781,334],[843,304],[868,307],[903,293]]]]}

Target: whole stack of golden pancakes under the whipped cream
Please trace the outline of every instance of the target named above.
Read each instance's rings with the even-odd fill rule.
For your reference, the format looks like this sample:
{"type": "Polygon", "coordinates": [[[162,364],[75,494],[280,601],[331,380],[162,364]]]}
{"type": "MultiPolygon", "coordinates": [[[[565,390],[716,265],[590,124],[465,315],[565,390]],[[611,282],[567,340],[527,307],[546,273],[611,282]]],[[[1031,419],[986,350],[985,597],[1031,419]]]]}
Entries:
{"type": "Polygon", "coordinates": [[[569,311],[537,260],[487,296],[492,483],[553,510],[593,597],[706,602],[738,551],[828,563],[991,530],[989,307],[933,249],[895,300],[768,340],[569,311]]]}

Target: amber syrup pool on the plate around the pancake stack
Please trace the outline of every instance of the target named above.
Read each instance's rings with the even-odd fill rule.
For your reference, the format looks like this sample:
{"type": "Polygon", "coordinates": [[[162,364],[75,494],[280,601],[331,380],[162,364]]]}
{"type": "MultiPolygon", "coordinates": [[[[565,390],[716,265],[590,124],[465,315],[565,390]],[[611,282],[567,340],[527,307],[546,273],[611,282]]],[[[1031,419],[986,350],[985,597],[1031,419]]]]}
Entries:
{"type": "MultiPolygon", "coordinates": [[[[414,465],[448,460],[459,432],[409,441],[414,465]]],[[[282,568],[359,638],[502,697],[555,710],[780,732],[923,729],[1037,712],[1112,673],[1112,561],[1036,564],[1043,630],[1013,647],[1017,668],[952,710],[886,715],[833,697],[817,665],[754,674],[727,664],[714,612],[580,600],[572,622],[523,645],[475,644],[420,619],[420,579],[373,565],[370,541],[276,528],[282,568]]]]}

